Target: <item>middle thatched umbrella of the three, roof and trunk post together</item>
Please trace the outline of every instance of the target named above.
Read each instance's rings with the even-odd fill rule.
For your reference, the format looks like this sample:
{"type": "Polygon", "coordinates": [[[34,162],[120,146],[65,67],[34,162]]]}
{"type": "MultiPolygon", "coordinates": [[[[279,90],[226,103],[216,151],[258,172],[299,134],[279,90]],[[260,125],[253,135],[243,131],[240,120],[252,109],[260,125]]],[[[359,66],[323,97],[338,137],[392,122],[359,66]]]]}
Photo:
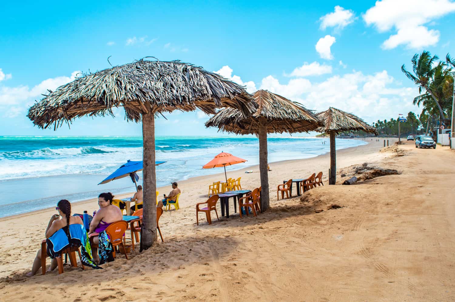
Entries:
{"type": "Polygon", "coordinates": [[[220,110],[210,118],[206,127],[217,127],[235,134],[256,134],[259,138],[259,170],[261,175],[261,209],[269,206],[267,171],[267,134],[308,132],[323,126],[323,122],[311,110],[267,90],[253,94],[258,104],[256,112],[245,118],[233,108],[220,110]]]}

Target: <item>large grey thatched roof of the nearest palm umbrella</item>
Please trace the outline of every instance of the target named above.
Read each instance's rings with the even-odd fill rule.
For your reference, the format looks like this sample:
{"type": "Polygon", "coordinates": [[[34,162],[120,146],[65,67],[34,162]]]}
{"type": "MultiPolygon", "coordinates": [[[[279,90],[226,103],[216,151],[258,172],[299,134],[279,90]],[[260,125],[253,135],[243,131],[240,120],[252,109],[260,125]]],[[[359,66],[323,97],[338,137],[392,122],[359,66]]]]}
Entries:
{"type": "Polygon", "coordinates": [[[126,119],[141,121],[141,114],[201,109],[207,114],[230,106],[251,114],[254,104],[242,86],[192,64],[180,61],[135,62],[83,74],[62,85],[29,109],[28,117],[40,128],[55,128],[84,115],[112,115],[123,107],[126,119]]]}

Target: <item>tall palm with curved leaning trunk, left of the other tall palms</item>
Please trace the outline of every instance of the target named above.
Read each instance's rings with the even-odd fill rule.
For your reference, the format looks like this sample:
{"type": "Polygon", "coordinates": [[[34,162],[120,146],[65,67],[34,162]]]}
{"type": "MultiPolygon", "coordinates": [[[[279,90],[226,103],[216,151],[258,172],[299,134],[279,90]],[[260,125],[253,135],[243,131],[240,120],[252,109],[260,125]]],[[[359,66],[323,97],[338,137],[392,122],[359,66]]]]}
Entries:
{"type": "MultiPolygon", "coordinates": [[[[438,99],[435,95],[435,91],[433,89],[439,87],[436,83],[433,85],[435,73],[439,68],[444,69],[443,66],[445,65],[444,62],[440,62],[436,67],[433,67],[433,64],[439,57],[434,55],[431,57],[429,51],[424,50],[422,54],[415,54],[414,57],[411,59],[412,69],[414,74],[407,71],[404,67],[404,64],[401,66],[401,71],[408,77],[408,79],[412,80],[416,85],[419,86],[419,93],[422,94],[422,91],[425,90],[428,94],[431,95],[432,99],[435,101],[441,119],[445,119],[444,110],[442,110],[440,102],[442,99],[438,99]]],[[[442,72],[442,70],[440,70],[442,72]]],[[[439,83],[440,84],[440,83],[439,83]]]]}

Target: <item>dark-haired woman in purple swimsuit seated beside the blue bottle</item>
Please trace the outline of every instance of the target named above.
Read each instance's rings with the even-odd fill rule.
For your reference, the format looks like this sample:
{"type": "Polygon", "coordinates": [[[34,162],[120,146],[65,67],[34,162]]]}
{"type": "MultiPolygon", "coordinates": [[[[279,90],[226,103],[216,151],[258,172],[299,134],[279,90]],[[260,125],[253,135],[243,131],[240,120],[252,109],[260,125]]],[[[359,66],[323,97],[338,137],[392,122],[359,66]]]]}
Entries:
{"type": "MultiPolygon", "coordinates": [[[[123,218],[120,208],[112,204],[112,198],[114,198],[114,195],[111,193],[101,193],[100,196],[98,196],[98,205],[100,206],[100,209],[96,212],[90,223],[89,235],[91,233],[101,233],[111,223],[120,221],[123,218]]],[[[98,244],[98,236],[93,237],[93,243],[96,245],[98,244]]],[[[92,247],[91,252],[93,254],[93,260],[98,263],[100,261],[98,250],[92,247]]]]}

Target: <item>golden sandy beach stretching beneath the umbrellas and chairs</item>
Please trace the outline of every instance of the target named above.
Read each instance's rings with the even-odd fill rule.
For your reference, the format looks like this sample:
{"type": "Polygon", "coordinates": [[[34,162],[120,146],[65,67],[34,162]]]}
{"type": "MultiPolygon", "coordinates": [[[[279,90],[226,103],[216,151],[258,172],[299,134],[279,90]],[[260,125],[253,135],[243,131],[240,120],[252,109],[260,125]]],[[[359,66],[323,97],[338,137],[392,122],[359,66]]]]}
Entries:
{"type": "MultiPolygon", "coordinates": [[[[326,183],[329,155],[273,163],[270,209],[240,218],[231,201],[230,218],[217,221],[213,213],[212,225],[200,214],[196,226],[194,205],[224,173],[191,178],[179,182],[181,209],[160,219],[164,243],[136,248],[130,260],[118,255],[103,270],[66,267],[61,275],[25,277],[55,210],[1,218],[1,300],[453,301],[454,155],[447,147],[415,149],[414,142],[384,149],[373,139],[337,152],[337,184],[339,174],[349,177],[364,162],[399,175],[325,185],[301,198],[293,190],[293,198],[279,201],[283,180],[323,171],[326,183]]],[[[242,177],[243,188],[259,186],[257,166],[228,177],[242,177]]],[[[95,209],[88,200],[72,212],[95,209]]]]}

